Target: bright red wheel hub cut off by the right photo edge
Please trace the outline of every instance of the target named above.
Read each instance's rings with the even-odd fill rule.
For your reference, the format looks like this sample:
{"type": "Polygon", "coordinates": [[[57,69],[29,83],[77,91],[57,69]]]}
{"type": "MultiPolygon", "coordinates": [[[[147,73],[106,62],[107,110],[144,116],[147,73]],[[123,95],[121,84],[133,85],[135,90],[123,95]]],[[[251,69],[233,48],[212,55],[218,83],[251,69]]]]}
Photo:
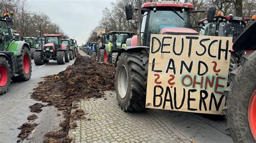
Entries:
{"type": "Polygon", "coordinates": [[[256,90],[248,106],[248,119],[254,140],[256,140],[256,90]]]}

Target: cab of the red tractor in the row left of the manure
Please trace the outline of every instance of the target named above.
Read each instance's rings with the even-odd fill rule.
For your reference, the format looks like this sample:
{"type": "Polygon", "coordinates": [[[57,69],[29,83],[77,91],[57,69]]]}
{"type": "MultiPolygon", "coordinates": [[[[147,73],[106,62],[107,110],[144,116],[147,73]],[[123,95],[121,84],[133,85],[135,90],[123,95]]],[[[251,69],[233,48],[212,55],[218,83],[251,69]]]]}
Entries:
{"type": "Polygon", "coordinates": [[[48,48],[56,51],[56,49],[62,48],[62,34],[44,34],[44,40],[44,50],[48,48]]]}

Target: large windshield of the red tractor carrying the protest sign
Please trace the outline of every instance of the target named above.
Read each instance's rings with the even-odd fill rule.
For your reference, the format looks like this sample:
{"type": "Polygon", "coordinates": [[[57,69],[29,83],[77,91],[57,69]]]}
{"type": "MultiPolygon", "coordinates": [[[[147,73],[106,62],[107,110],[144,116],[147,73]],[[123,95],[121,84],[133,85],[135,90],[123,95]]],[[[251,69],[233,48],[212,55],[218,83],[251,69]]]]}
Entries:
{"type": "Polygon", "coordinates": [[[147,28],[147,43],[150,45],[151,34],[159,34],[162,28],[165,27],[189,27],[188,13],[181,10],[172,11],[158,10],[151,11],[149,16],[149,27],[147,28]],[[182,17],[182,18],[181,18],[182,17]]]}

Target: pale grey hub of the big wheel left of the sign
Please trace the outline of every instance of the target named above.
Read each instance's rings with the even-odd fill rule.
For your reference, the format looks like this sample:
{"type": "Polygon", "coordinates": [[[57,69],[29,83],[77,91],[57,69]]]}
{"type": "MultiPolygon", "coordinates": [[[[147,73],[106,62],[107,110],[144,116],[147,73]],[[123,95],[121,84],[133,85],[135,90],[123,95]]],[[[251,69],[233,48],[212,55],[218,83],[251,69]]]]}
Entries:
{"type": "Polygon", "coordinates": [[[125,66],[121,66],[118,73],[118,92],[122,99],[125,98],[128,88],[128,76],[125,66]]]}

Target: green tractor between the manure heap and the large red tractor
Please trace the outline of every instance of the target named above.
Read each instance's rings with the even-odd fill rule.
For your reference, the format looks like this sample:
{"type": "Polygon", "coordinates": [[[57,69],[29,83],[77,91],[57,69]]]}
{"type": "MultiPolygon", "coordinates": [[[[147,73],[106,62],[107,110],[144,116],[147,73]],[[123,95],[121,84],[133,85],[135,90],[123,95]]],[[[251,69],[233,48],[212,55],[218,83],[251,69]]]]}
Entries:
{"type": "Polygon", "coordinates": [[[103,47],[99,49],[101,62],[116,63],[117,54],[126,47],[126,40],[132,38],[134,32],[112,31],[103,35],[103,47]]]}

